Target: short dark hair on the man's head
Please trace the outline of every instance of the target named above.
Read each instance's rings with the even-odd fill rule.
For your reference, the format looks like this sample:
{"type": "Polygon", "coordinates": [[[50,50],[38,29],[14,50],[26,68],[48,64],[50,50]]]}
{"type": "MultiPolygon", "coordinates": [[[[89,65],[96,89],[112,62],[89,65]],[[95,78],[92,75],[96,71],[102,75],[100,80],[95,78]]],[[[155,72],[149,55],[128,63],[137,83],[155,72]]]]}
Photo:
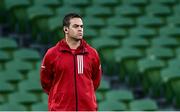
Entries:
{"type": "Polygon", "coordinates": [[[64,27],[64,26],[69,27],[69,25],[70,25],[70,19],[72,19],[72,18],[81,18],[81,19],[82,19],[82,17],[81,17],[79,14],[69,13],[69,14],[67,14],[67,15],[64,16],[64,19],[63,19],[63,27],[64,27]]]}

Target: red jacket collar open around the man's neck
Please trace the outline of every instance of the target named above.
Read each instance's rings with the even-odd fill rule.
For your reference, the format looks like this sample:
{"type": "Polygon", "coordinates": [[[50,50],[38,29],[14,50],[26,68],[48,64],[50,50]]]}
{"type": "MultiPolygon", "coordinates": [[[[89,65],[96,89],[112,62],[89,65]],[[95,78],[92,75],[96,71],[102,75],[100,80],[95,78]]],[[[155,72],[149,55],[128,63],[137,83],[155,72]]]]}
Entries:
{"type": "MultiPolygon", "coordinates": [[[[69,47],[65,39],[59,41],[56,46],[61,52],[71,52],[71,48],[69,47]]],[[[82,39],[80,46],[75,51],[75,54],[85,54],[85,53],[88,53],[87,43],[85,40],[82,39]]]]}

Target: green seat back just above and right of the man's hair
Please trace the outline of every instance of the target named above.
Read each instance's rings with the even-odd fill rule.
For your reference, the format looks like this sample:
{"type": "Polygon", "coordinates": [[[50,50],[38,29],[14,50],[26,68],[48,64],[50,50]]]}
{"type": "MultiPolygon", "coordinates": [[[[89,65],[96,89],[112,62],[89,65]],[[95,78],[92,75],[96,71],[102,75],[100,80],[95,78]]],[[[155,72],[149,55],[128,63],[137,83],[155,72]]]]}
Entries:
{"type": "Polygon", "coordinates": [[[108,7],[93,5],[85,9],[86,16],[110,17],[112,11],[108,7]]]}

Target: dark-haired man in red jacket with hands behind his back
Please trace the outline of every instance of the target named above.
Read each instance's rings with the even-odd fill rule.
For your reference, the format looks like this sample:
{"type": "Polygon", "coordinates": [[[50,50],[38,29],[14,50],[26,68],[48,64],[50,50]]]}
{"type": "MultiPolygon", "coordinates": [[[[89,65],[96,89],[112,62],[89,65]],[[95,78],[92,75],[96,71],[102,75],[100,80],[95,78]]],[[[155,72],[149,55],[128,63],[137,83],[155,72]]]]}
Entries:
{"type": "Polygon", "coordinates": [[[83,22],[78,14],[64,17],[63,30],[65,38],[47,51],[41,65],[48,109],[97,110],[95,90],[102,73],[98,53],[83,40],[83,22]]]}

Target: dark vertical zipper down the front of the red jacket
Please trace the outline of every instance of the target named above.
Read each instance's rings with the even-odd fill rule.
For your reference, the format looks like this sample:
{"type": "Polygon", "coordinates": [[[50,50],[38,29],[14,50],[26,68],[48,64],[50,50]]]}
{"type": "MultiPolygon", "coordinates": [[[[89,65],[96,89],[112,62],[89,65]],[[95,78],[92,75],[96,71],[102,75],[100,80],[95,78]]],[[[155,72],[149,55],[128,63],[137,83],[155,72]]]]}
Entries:
{"type": "Polygon", "coordinates": [[[76,82],[76,55],[74,56],[74,84],[75,84],[75,97],[76,97],[76,111],[78,111],[78,93],[77,93],[77,82],[76,82]]]}

